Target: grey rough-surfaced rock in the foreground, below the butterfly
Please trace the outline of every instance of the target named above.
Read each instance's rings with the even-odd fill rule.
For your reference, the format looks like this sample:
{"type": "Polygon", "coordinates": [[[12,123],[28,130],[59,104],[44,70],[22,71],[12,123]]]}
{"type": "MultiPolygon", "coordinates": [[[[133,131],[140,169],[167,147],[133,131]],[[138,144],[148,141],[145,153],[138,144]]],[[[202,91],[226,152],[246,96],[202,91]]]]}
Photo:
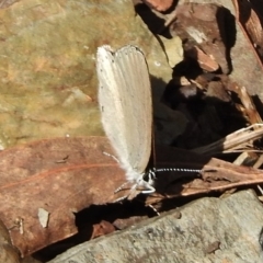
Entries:
{"type": "Polygon", "coordinates": [[[197,199],[77,245],[49,263],[263,262],[262,226],[263,206],[248,190],[224,198],[197,199]]]}

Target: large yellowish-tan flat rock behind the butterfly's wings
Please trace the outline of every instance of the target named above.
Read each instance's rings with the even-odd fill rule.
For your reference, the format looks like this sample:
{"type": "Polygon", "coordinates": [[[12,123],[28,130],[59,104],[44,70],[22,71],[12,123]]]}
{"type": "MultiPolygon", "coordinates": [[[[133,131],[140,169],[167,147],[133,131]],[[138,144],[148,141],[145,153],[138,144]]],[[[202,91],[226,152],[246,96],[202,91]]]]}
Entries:
{"type": "Polygon", "coordinates": [[[152,89],[172,70],[132,1],[20,1],[0,10],[0,149],[36,139],[102,135],[95,53],[139,46],[152,89]]]}

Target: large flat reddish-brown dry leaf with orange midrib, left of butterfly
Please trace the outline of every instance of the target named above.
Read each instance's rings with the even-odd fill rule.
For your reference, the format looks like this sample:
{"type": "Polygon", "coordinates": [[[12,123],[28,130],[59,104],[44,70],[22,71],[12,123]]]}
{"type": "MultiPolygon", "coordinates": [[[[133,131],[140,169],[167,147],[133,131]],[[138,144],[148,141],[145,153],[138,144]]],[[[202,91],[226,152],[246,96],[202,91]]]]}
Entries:
{"type": "Polygon", "coordinates": [[[0,218],[22,256],[77,232],[73,213],[113,202],[125,182],[103,137],[36,141],[0,153],[0,218]],[[38,209],[49,213],[47,227],[38,209]]]}

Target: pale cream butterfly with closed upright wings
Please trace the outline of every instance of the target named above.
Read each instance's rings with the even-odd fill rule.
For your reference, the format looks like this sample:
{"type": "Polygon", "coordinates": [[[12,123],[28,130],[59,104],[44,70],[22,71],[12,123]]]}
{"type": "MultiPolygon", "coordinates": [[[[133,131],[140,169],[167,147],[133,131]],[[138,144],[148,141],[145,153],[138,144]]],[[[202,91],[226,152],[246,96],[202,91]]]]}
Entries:
{"type": "Polygon", "coordinates": [[[98,48],[99,104],[104,130],[116,152],[132,188],[142,186],[151,153],[152,100],[149,72],[142,52],[125,46],[114,53],[110,46],[98,48]]]}

